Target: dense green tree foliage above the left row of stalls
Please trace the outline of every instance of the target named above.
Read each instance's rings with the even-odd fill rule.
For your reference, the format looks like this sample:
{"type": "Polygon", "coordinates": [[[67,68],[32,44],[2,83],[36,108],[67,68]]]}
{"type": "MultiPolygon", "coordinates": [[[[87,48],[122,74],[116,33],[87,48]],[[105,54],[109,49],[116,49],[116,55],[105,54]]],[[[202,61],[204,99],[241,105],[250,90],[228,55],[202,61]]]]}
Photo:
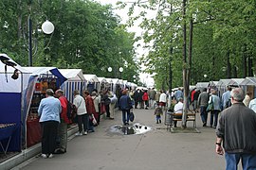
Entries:
{"type": "Polygon", "coordinates": [[[33,26],[33,66],[81,68],[84,74],[120,76],[133,81],[138,74],[135,59],[135,34],[119,24],[109,5],[90,0],[45,0],[0,2],[0,51],[21,65],[27,65],[27,17],[33,26]],[[30,4],[31,2],[31,4],[30,4]],[[55,26],[52,35],[41,28],[49,20],[55,26]],[[116,73],[107,73],[107,68],[116,73]]]}

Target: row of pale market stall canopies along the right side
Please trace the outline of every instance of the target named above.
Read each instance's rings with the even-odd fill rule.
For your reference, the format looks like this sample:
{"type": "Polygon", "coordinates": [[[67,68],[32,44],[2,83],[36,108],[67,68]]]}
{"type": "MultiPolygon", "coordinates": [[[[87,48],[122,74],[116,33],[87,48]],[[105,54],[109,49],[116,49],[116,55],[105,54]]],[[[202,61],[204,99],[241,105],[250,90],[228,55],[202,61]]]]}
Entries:
{"type": "Polygon", "coordinates": [[[250,93],[251,98],[256,97],[256,77],[247,76],[246,78],[229,78],[220,79],[219,81],[210,82],[198,82],[196,88],[198,89],[215,89],[217,90],[219,96],[227,91],[227,87],[241,87],[245,93],[250,93]]]}

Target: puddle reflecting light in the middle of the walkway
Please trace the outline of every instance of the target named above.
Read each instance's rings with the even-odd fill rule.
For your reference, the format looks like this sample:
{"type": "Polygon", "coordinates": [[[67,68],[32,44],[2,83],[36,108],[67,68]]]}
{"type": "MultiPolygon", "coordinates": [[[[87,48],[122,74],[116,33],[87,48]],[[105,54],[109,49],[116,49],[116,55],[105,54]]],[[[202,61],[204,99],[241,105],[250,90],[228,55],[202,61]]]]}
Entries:
{"type": "Polygon", "coordinates": [[[131,134],[142,134],[150,131],[152,128],[140,125],[138,123],[134,125],[128,125],[128,126],[121,126],[121,125],[115,125],[110,128],[110,131],[113,133],[120,133],[124,135],[131,135],[131,134]]]}

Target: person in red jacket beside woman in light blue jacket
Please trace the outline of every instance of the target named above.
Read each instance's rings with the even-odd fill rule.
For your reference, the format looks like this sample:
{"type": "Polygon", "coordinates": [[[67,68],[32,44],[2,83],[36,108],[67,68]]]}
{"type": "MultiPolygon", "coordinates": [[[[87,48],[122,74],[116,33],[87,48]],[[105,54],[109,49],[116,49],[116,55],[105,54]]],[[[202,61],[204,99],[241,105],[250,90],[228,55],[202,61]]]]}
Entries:
{"type": "Polygon", "coordinates": [[[58,140],[57,140],[57,148],[55,149],[55,153],[65,153],[66,152],[66,144],[67,144],[67,125],[70,124],[70,120],[67,117],[67,99],[64,96],[64,91],[57,90],[55,92],[55,96],[59,98],[62,106],[61,112],[61,123],[58,127],[58,140]]]}

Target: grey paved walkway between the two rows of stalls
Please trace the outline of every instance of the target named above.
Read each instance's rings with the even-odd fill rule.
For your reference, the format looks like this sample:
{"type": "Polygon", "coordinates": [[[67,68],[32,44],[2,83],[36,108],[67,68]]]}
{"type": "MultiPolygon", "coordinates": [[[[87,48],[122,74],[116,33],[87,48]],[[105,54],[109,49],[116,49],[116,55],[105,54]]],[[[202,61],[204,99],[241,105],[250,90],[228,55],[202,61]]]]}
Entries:
{"type": "MultiPolygon", "coordinates": [[[[153,130],[140,135],[111,133],[110,127],[121,125],[118,111],[115,120],[102,120],[96,132],[70,140],[67,153],[55,155],[53,159],[33,158],[13,169],[225,169],[224,157],[214,152],[214,129],[202,127],[199,114],[197,127],[201,133],[171,133],[163,124],[155,124],[154,110],[134,112],[135,123],[153,127],[153,130]]],[[[192,122],[188,127],[192,127],[192,122]]]]}

